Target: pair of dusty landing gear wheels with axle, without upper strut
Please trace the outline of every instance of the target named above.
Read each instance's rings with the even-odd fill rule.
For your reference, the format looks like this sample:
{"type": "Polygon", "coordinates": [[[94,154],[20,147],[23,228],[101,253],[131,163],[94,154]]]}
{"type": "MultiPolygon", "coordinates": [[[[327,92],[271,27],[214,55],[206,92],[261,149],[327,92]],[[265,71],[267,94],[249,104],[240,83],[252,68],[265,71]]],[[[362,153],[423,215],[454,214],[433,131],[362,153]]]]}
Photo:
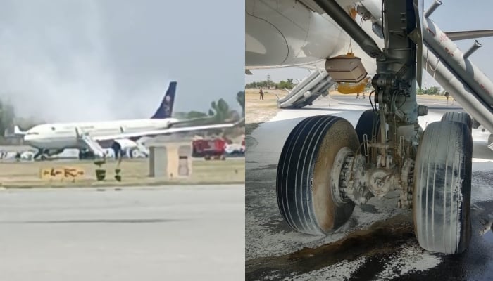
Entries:
{"type": "MultiPolygon", "coordinates": [[[[470,117],[461,115],[465,120],[451,113],[428,124],[414,160],[398,163],[378,155],[380,124],[372,110],[363,112],[356,129],[335,116],[304,119],[289,134],[277,168],[282,218],[301,233],[329,234],[348,221],[355,204],[400,190],[398,205],[412,207],[420,246],[461,253],[471,233],[473,144],[470,117]]],[[[394,146],[388,139],[384,143],[394,146]]]]}

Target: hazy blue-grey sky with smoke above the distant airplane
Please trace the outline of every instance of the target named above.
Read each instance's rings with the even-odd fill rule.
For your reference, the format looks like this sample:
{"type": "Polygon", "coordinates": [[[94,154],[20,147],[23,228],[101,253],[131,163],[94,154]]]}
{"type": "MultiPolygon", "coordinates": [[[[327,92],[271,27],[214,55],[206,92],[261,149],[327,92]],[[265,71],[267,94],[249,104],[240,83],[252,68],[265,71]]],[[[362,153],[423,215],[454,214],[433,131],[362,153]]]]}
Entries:
{"type": "Polygon", "coordinates": [[[240,108],[243,1],[4,0],[0,42],[0,98],[22,117],[148,118],[170,81],[177,112],[240,108]]]}

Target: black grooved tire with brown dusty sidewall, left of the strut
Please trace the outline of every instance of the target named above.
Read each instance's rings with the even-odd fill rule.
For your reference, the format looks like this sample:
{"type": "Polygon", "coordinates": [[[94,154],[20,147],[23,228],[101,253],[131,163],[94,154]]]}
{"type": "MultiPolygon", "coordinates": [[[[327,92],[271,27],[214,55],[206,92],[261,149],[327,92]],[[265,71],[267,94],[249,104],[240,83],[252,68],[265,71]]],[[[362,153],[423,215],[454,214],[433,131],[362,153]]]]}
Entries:
{"type": "Polygon", "coordinates": [[[287,224],[301,233],[332,233],[351,216],[354,202],[336,203],[330,176],[341,148],[358,149],[358,136],[345,119],[313,116],[291,131],[277,166],[277,205],[287,224]]]}

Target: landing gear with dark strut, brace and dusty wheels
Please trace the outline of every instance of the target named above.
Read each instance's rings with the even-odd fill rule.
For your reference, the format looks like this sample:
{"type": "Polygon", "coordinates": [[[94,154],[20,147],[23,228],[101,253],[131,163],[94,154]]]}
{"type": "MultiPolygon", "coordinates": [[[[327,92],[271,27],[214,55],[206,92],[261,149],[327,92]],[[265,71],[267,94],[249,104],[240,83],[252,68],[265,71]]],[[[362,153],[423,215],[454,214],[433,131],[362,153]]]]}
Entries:
{"type": "Polygon", "coordinates": [[[372,79],[377,108],[363,112],[356,129],[334,116],[308,117],[294,127],[277,167],[282,217],[301,233],[327,234],[349,219],[355,204],[398,190],[398,207],[413,209],[421,247],[465,251],[471,233],[472,123],[466,113],[448,113],[424,131],[418,124],[428,108],[416,103],[421,41],[413,36],[420,33],[414,1],[384,0],[392,13],[384,13],[383,51],[347,13],[337,13],[342,8],[335,1],[316,2],[377,60],[372,79]]]}

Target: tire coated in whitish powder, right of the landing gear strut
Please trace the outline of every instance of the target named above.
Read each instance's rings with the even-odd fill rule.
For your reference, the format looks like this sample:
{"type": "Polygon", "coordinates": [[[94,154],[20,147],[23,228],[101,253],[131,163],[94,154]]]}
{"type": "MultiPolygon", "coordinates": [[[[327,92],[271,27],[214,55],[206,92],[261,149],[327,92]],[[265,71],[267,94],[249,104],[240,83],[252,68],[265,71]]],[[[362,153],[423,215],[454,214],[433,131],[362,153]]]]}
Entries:
{"type": "Polygon", "coordinates": [[[416,238],[428,251],[460,254],[470,242],[473,139],[461,122],[433,122],[423,133],[414,168],[416,238]]]}

